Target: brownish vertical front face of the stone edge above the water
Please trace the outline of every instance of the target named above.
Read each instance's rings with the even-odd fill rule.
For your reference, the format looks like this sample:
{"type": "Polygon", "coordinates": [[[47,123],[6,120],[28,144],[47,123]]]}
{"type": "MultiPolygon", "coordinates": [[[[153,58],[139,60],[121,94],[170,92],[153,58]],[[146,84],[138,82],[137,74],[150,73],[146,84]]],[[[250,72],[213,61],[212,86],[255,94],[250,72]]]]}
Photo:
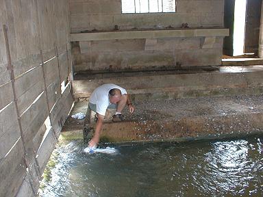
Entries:
{"type": "MultiPolygon", "coordinates": [[[[87,114],[90,111],[87,110],[87,114]]],[[[89,116],[90,117],[90,116],[89,116]]],[[[90,118],[89,118],[90,120],[90,118]]],[[[95,124],[84,124],[84,141],[92,136],[95,124]]],[[[101,142],[185,142],[220,139],[263,133],[263,113],[232,114],[227,116],[192,116],[179,119],[145,120],[142,122],[105,122],[101,142]]]]}

